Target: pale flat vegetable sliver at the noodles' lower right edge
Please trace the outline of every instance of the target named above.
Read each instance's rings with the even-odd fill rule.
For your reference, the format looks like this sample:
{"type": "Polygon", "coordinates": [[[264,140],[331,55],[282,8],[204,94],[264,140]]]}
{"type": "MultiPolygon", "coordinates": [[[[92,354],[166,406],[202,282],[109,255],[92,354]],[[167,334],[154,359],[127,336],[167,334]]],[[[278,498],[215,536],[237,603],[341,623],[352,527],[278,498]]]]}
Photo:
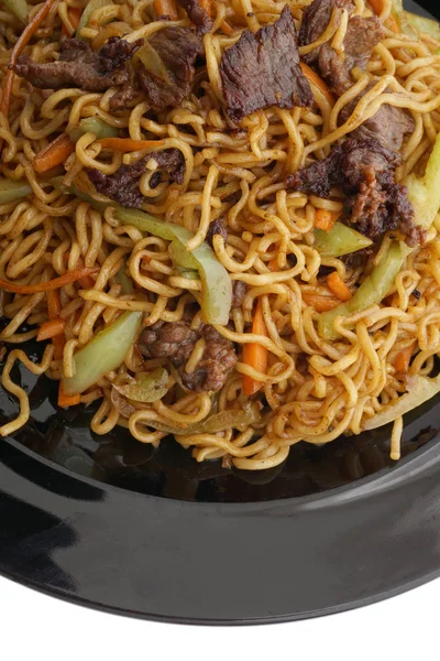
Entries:
{"type": "Polygon", "coordinates": [[[369,420],[364,429],[375,430],[376,427],[384,426],[384,424],[388,424],[388,422],[393,422],[396,418],[420,407],[439,392],[440,375],[435,379],[419,376],[409,377],[408,392],[399,397],[395,403],[388,404],[380,413],[376,413],[374,418],[369,420]]]}

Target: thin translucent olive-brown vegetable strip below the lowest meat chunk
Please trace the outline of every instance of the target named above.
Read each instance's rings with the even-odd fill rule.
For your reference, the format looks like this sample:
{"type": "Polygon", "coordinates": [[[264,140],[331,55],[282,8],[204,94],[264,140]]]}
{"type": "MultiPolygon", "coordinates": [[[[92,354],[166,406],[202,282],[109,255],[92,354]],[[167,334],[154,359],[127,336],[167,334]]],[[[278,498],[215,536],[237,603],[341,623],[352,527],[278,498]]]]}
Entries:
{"type": "Polygon", "coordinates": [[[244,410],[220,411],[219,413],[213,413],[201,422],[196,422],[187,425],[186,427],[165,424],[156,420],[148,420],[145,422],[145,424],[146,426],[158,430],[160,432],[166,432],[167,434],[188,436],[189,434],[215,434],[217,432],[226,432],[230,429],[257,424],[260,421],[261,413],[258,403],[248,402],[248,405],[244,410]]]}

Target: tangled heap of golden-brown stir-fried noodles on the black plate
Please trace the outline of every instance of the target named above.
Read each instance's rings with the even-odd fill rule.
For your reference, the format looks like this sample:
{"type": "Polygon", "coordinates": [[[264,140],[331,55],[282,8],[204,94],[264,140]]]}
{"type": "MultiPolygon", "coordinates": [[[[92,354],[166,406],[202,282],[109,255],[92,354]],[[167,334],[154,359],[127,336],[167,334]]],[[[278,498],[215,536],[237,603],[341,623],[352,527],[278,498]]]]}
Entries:
{"type": "MultiPolygon", "coordinates": [[[[43,4],[29,6],[31,21],[43,4]]],[[[84,12],[87,4],[55,1],[24,53],[36,63],[57,61],[62,30],[63,39],[72,36],[78,9],[84,12]]],[[[155,4],[97,3],[79,36],[99,51],[111,37],[133,45],[169,29],[194,30],[179,6],[169,21],[157,15],[155,4]]],[[[73,84],[54,90],[11,77],[8,64],[23,25],[2,7],[0,85],[11,96],[0,106],[0,359],[1,386],[16,398],[19,413],[0,426],[1,436],[30,418],[28,394],[13,379],[16,361],[61,381],[59,405],[94,404],[96,434],[122,425],[154,447],[173,434],[197,462],[221,459],[245,470],[282,464],[301,441],[322,445],[360,434],[410,392],[417,378],[437,376],[440,216],[411,249],[398,231],[387,231],[363,261],[340,259],[319,249],[316,228],[320,218],[343,214],[343,193],[307,195],[286,185],[286,177],[327,158],[384,106],[405,109],[414,121],[399,150],[397,183],[411,174],[422,177],[440,133],[440,42],[396,31],[393,3],[384,0],[383,36],[365,67],[352,71],[351,86],[333,94],[312,71],[311,107],[260,109],[234,123],[226,110],[222,55],[245,30],[255,33],[279,19],[284,4],[213,2],[212,30],[200,37],[204,56],[195,61],[190,91],[162,110],[142,88],[117,107],[117,84],[103,91],[73,84]],[[55,140],[64,145],[62,156],[53,152],[55,140]],[[174,154],[179,172],[162,164],[164,153],[174,154]],[[130,221],[121,215],[123,201],[91,183],[90,171],[96,182],[131,172],[140,162],[138,208],[161,227],[184,228],[177,238],[142,227],[134,216],[130,221]],[[7,194],[4,182],[21,192],[7,194]],[[212,235],[212,224],[223,231],[212,235]],[[328,274],[353,296],[397,243],[403,259],[386,295],[336,314],[326,335],[322,312],[344,300],[328,274]],[[207,319],[210,274],[197,261],[205,250],[229,275],[234,295],[243,292],[230,306],[229,322],[207,319]],[[94,382],[66,391],[78,378],[80,351],[102,337],[101,330],[129,318],[138,326],[119,364],[108,360],[94,382]],[[194,337],[182,364],[169,351],[154,355],[143,347],[146,332],[176,324],[194,337]],[[194,389],[188,383],[208,369],[213,340],[207,328],[235,359],[221,387],[194,389]],[[42,333],[48,342],[34,362],[28,343],[42,333]],[[148,378],[157,381],[156,395],[141,388],[148,378]]],[[[307,2],[288,4],[299,28],[307,2]]],[[[322,33],[300,45],[300,57],[308,62],[316,48],[331,47],[343,59],[351,18],[372,15],[366,0],[354,0],[352,11],[333,8],[322,33]]],[[[135,53],[131,74],[140,63],[135,53]]],[[[224,360],[222,355],[219,361],[224,360]]],[[[393,422],[393,459],[400,456],[403,413],[386,421],[393,422]]]]}

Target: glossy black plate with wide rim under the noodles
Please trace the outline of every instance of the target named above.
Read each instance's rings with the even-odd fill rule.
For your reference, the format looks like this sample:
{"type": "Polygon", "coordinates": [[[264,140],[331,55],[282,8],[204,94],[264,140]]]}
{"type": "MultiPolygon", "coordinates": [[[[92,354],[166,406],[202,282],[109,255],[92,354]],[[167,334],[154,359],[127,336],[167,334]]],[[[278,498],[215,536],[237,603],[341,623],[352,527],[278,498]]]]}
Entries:
{"type": "MultiPolygon", "coordinates": [[[[15,378],[32,421],[0,442],[6,576],[125,615],[249,624],[352,608],[440,574],[439,398],[407,416],[397,465],[385,429],[299,444],[253,474],[200,466],[172,440],[152,452],[123,430],[97,437],[90,412],[55,411],[47,379],[15,378]]],[[[15,407],[0,392],[0,420],[15,407]]]]}

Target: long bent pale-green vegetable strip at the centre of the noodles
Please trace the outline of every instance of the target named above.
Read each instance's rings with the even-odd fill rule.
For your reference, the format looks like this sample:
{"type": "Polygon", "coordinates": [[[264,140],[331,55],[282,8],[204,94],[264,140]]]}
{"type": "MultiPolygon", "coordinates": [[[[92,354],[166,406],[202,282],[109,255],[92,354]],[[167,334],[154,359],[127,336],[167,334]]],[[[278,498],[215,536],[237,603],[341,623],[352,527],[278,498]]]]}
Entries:
{"type": "Polygon", "coordinates": [[[193,252],[186,249],[187,241],[194,236],[185,227],[174,223],[164,223],[145,212],[117,207],[114,216],[125,225],[133,225],[140,231],[146,231],[172,241],[170,254],[175,267],[197,269],[201,280],[201,310],[208,324],[226,326],[232,304],[232,284],[228,271],[218,261],[208,243],[202,243],[193,252]]]}

